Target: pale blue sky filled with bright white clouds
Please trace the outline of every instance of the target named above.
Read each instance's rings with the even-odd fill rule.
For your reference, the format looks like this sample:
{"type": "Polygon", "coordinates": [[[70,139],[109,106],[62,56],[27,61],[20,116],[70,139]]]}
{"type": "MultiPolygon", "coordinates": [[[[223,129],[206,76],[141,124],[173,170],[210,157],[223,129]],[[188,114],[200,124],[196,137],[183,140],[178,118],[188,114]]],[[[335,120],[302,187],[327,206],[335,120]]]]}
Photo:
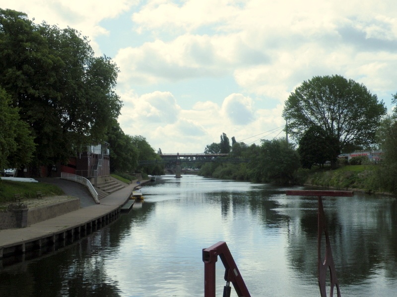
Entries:
{"type": "Polygon", "coordinates": [[[285,137],[284,102],[314,76],[341,75],[392,110],[396,0],[0,0],[71,27],[118,65],[118,119],[163,153],[285,137]]]}

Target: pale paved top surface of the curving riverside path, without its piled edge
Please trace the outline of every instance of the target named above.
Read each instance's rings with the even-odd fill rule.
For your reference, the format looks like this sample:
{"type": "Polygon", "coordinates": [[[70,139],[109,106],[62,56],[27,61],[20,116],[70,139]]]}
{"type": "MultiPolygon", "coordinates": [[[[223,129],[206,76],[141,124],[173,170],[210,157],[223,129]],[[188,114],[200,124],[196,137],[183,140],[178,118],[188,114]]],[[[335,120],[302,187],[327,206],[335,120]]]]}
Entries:
{"type": "MultiPolygon", "coordinates": [[[[140,185],[145,182],[141,181],[140,185]]],[[[82,207],[55,218],[32,224],[26,228],[0,230],[0,249],[48,237],[100,218],[122,206],[129,199],[133,188],[136,186],[139,186],[139,184],[136,182],[132,183],[126,188],[102,198],[100,204],[82,207]]]]}

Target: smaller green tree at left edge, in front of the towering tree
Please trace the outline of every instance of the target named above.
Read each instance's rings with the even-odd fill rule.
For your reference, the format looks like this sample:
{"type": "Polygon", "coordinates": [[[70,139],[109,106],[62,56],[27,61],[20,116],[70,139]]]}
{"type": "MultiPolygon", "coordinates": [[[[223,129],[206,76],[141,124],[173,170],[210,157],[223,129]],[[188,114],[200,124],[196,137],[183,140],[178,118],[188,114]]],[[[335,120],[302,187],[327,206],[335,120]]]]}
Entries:
{"type": "Polygon", "coordinates": [[[19,118],[18,109],[11,107],[10,97],[0,88],[0,169],[20,168],[30,162],[35,150],[29,125],[19,118]]]}

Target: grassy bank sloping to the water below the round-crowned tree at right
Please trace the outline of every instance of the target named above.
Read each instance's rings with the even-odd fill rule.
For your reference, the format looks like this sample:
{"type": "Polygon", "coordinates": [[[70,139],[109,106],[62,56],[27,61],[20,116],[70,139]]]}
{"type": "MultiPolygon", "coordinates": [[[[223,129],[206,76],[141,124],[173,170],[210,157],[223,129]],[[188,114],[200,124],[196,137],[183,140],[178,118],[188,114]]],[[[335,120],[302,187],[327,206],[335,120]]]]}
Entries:
{"type": "Polygon", "coordinates": [[[305,184],[339,190],[384,193],[377,182],[377,171],[376,165],[347,165],[333,170],[313,168],[308,172],[305,184]]]}

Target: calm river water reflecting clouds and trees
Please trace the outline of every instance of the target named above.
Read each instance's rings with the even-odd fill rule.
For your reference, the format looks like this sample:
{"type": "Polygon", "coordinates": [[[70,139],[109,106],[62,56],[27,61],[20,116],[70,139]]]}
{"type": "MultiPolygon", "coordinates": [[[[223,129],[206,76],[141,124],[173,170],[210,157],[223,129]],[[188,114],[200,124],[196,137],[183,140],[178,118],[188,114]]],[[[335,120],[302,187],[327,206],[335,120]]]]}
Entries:
{"type": "MultiPolygon", "coordinates": [[[[320,296],[317,198],[286,190],[195,175],[157,178],[142,188],[144,202],[117,221],[1,268],[0,296],[203,297],[202,249],[219,241],[251,296],[320,296]]],[[[323,204],[341,296],[396,296],[397,200],[354,193],[323,204]]],[[[217,296],[223,274],[218,260],[217,296]]]]}

